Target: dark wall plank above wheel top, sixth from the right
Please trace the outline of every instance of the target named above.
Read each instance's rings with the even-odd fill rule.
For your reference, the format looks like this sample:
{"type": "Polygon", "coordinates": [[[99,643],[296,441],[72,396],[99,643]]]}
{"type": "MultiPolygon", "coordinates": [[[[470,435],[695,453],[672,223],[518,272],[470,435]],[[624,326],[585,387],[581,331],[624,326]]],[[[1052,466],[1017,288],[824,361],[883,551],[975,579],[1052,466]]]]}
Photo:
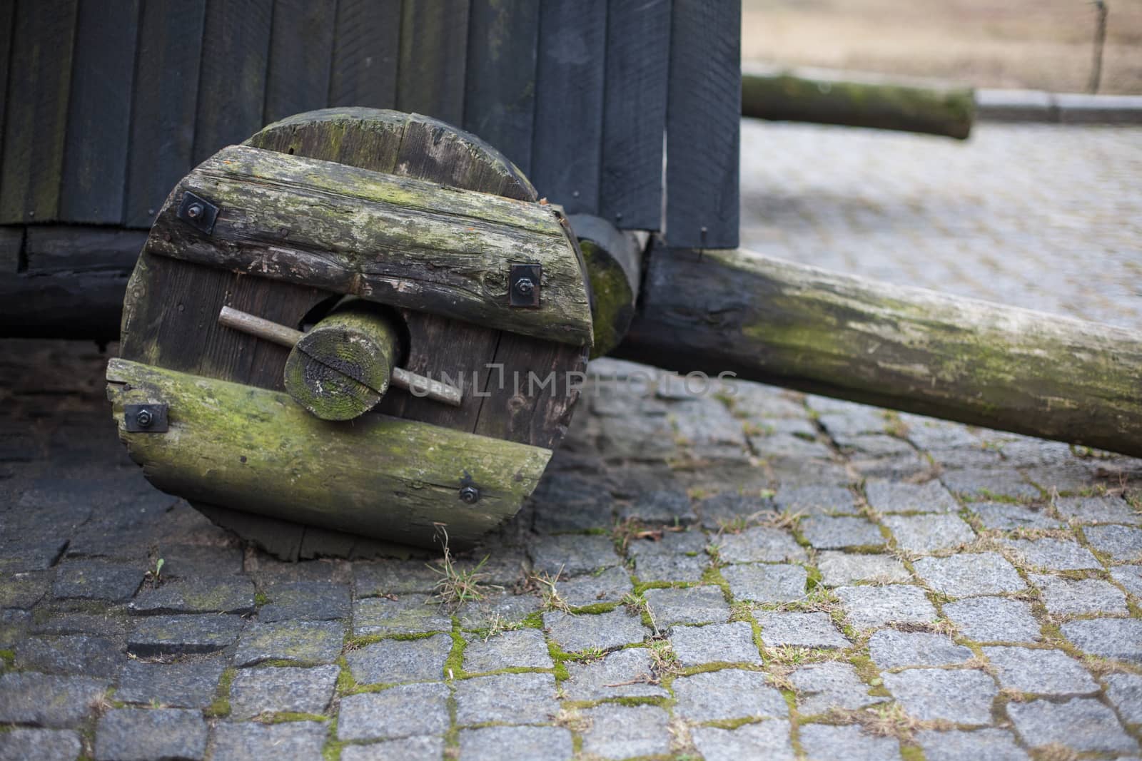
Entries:
{"type": "Polygon", "coordinates": [[[338,0],[330,106],[396,105],[401,0],[338,0]]]}

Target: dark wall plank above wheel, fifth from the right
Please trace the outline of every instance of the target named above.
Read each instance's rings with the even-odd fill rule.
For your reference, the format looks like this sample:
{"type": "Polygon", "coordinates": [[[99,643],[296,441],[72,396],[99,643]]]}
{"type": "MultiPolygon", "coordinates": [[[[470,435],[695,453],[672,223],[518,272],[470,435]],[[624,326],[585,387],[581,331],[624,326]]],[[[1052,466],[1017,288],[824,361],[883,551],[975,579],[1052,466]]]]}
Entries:
{"type": "Polygon", "coordinates": [[[467,46],[468,0],[405,2],[396,107],[459,127],[467,46]]]}

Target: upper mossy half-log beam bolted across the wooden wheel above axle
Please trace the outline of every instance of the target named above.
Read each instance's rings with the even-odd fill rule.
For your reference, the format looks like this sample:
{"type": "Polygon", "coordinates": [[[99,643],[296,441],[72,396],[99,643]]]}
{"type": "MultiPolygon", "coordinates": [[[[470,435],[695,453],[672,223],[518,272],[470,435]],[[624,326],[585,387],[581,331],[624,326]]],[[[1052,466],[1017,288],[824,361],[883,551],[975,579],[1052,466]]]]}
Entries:
{"type": "Polygon", "coordinates": [[[231,146],[179,183],[147,251],[523,335],[592,342],[582,265],[556,211],[486,193],[231,146]],[[187,191],[219,208],[210,235],[178,219],[187,191]],[[514,262],[542,266],[538,309],[509,306],[514,262]]]}

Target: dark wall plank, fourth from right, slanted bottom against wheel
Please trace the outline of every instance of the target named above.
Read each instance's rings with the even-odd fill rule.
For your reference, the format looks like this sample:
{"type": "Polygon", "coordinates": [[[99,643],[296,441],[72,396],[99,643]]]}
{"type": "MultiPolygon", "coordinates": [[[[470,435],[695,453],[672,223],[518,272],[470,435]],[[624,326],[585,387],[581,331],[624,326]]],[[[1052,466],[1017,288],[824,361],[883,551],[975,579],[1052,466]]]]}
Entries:
{"type": "Polygon", "coordinates": [[[531,171],[539,3],[472,0],[464,129],[531,171]]]}

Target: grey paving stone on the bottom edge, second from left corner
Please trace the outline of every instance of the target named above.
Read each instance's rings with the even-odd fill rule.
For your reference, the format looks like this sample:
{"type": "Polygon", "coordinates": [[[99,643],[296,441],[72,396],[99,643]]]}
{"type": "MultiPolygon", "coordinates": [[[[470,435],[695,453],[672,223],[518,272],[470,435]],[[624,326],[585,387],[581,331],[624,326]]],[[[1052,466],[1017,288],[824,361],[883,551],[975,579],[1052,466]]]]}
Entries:
{"type": "Polygon", "coordinates": [[[202,759],[207,723],[188,709],[113,709],[95,728],[96,761],[202,759]]]}

